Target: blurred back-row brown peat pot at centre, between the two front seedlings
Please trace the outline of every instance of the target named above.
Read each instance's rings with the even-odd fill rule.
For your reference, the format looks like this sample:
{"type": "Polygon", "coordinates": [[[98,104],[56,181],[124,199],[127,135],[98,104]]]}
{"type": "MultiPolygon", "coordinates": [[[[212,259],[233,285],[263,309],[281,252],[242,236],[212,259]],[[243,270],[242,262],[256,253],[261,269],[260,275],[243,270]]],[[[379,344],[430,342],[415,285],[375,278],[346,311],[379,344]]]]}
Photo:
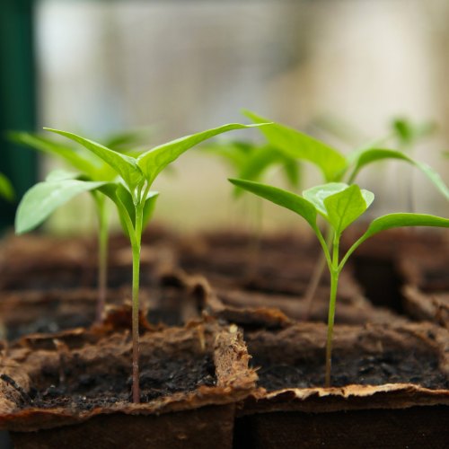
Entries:
{"type": "MultiPolygon", "coordinates": [[[[256,258],[250,246],[245,234],[206,234],[180,244],[176,260],[188,274],[206,277],[217,289],[304,295],[321,255],[321,247],[310,235],[261,239],[256,258]]],[[[324,271],[317,295],[329,286],[330,276],[324,271]]],[[[362,293],[348,265],[340,277],[340,301],[357,301],[362,293]]]]}

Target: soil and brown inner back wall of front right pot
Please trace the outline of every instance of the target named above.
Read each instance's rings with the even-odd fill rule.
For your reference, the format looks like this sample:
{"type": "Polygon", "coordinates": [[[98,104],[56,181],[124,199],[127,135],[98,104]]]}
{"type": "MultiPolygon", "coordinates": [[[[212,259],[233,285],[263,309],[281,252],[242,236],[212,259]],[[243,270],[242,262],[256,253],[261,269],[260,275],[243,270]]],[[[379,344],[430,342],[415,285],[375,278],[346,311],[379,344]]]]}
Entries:
{"type": "MultiPolygon", "coordinates": [[[[259,385],[269,392],[324,385],[325,329],[315,328],[313,334],[309,333],[312,328],[303,328],[245,335],[251,365],[259,368],[259,385]]],[[[428,329],[424,339],[410,330],[336,328],[332,386],[414,383],[449,389],[449,375],[440,367],[442,354],[435,346],[436,335],[428,329]]]]}

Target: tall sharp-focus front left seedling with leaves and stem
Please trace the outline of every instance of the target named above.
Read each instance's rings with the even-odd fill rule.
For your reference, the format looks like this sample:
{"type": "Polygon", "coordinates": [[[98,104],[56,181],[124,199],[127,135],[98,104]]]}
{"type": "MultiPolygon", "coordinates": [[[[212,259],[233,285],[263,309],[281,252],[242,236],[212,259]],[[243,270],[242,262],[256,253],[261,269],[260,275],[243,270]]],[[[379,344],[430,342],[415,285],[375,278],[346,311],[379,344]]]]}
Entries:
{"type": "MultiPolygon", "coordinates": [[[[122,223],[131,243],[133,258],[133,280],[132,280],[132,339],[133,339],[133,362],[132,362],[132,399],[134,402],[140,401],[139,391],[139,269],[140,269],[140,247],[142,233],[150,219],[154,210],[155,200],[158,196],[157,192],[151,191],[154,180],[163,172],[165,167],[175,161],[181,154],[189,150],[189,148],[198,145],[210,137],[232,131],[233,129],[252,128],[254,125],[241,125],[232,123],[219,128],[208,129],[191,136],[181,137],[167,144],[156,146],[145,151],[138,156],[120,154],[111,150],[106,146],[100,145],[92,140],[73,133],[60,131],[57,129],[46,128],[48,131],[57,133],[61,136],[81,144],[98,156],[101,161],[107,163],[111,170],[118,175],[118,180],[92,182],[88,186],[80,180],[71,180],[76,182],[78,189],[97,189],[104,195],[108,196],[117,207],[120,222],[122,223]],[[82,184],[79,184],[82,182],[82,184]]],[[[51,180],[47,180],[51,182],[51,180]]],[[[46,184],[46,183],[44,183],[46,184]]],[[[31,193],[25,195],[22,200],[22,209],[19,209],[18,225],[26,227],[27,220],[32,220],[32,214],[37,208],[45,207],[47,204],[58,200],[61,196],[61,189],[57,190],[57,194],[52,192],[52,186],[48,187],[48,196],[40,196],[31,201],[31,193]],[[22,223],[23,222],[23,223],[22,223]]],[[[32,190],[32,189],[31,189],[32,190]]],[[[71,188],[73,193],[75,188],[71,188]]]]}

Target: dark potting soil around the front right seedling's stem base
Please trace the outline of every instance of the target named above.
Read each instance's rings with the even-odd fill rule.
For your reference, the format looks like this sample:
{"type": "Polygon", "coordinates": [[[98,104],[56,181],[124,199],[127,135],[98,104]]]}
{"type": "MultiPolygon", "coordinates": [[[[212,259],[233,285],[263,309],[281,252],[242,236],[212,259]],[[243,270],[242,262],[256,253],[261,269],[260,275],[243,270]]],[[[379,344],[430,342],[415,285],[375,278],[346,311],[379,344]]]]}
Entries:
{"type": "MultiPolygon", "coordinates": [[[[255,354],[251,365],[260,368],[259,385],[269,392],[324,385],[324,350],[316,360],[298,358],[293,364],[273,364],[268,357],[255,354]]],[[[413,351],[385,351],[382,355],[362,355],[357,359],[334,355],[331,385],[340,387],[351,383],[415,383],[425,388],[449,389],[449,379],[439,371],[437,356],[413,351]]]]}

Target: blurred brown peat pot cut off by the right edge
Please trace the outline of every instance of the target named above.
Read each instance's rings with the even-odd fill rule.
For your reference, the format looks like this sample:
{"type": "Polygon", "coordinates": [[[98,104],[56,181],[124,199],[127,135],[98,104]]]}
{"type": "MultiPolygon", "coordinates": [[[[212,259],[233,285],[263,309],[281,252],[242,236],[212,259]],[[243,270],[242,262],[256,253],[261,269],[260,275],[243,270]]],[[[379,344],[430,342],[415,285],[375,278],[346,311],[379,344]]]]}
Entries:
{"type": "Polygon", "coordinates": [[[449,240],[419,251],[404,248],[399,269],[405,312],[418,321],[433,321],[449,329],[449,240]]]}

